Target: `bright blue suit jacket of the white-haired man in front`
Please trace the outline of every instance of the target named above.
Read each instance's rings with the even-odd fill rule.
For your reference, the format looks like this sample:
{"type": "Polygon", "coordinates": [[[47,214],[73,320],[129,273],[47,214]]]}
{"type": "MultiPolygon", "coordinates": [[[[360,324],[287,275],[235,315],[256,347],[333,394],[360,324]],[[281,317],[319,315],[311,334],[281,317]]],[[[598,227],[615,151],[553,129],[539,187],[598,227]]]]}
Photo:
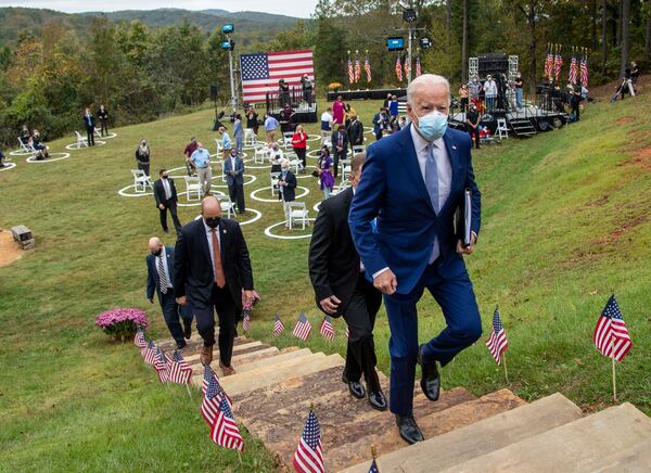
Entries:
{"type": "Polygon", "coordinates": [[[383,138],[368,149],[348,222],[353,240],[369,274],[388,267],[398,280],[397,292],[407,294],[420,280],[438,237],[438,272],[454,277],[465,271],[457,253],[454,215],[472,189],[472,230],[480,233],[481,194],[472,169],[470,136],[448,128],[443,137],[450,159],[450,194],[438,215],[434,213],[419,164],[410,126],[383,138]],[[378,217],[376,233],[371,220],[378,217]]]}

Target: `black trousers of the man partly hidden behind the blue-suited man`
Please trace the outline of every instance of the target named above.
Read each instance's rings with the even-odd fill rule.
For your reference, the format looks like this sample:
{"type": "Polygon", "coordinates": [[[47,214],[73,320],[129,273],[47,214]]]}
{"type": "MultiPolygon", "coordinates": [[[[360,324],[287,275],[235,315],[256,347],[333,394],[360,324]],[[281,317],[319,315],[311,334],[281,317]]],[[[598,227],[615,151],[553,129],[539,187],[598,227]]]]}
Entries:
{"type": "Polygon", "coordinates": [[[359,274],[357,287],[343,315],[348,325],[348,347],[344,375],[348,381],[359,381],[363,374],[367,388],[371,393],[380,391],[380,380],[375,372],[375,344],[373,327],[375,315],[382,304],[382,294],[359,274]]]}

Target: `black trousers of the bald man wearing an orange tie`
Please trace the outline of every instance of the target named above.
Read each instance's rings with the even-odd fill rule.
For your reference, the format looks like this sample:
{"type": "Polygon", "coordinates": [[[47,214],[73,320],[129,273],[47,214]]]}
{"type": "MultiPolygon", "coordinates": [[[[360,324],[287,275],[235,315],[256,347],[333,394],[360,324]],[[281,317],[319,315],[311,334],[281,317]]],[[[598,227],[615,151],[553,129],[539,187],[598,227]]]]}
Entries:
{"type": "Polygon", "coordinates": [[[213,294],[209,306],[193,305],[196,318],[196,330],[204,341],[204,346],[215,345],[215,310],[219,317],[219,359],[221,363],[230,367],[233,355],[233,340],[235,337],[235,303],[228,290],[213,284],[213,294]]]}

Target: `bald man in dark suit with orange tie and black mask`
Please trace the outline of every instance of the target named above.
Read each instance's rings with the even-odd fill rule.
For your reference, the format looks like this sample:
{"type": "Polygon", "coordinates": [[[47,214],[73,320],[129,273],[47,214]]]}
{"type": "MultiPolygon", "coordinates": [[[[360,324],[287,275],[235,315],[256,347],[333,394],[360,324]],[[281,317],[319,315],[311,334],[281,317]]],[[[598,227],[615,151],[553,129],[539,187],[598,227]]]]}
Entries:
{"type": "Polygon", "coordinates": [[[253,302],[253,271],[240,225],[221,218],[219,201],[209,195],[202,201],[202,218],[181,229],[176,252],[175,295],[181,306],[190,303],[196,330],[204,341],[201,361],[209,365],[215,345],[215,312],[219,316],[219,367],[225,375],[231,366],[235,314],[253,302]]]}

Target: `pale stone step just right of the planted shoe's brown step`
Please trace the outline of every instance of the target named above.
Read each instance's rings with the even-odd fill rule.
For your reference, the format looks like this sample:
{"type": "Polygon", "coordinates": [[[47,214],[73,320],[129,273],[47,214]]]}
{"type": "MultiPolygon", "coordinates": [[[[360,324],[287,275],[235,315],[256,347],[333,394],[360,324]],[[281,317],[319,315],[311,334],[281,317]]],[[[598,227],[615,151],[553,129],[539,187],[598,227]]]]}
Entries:
{"type": "MultiPolygon", "coordinates": [[[[383,473],[443,470],[524,438],[582,418],[580,409],[561,394],[474,422],[378,458],[383,473]],[[490,439],[487,442],[487,439],[490,439]]],[[[346,473],[366,473],[370,464],[357,464],[346,473]]]]}

